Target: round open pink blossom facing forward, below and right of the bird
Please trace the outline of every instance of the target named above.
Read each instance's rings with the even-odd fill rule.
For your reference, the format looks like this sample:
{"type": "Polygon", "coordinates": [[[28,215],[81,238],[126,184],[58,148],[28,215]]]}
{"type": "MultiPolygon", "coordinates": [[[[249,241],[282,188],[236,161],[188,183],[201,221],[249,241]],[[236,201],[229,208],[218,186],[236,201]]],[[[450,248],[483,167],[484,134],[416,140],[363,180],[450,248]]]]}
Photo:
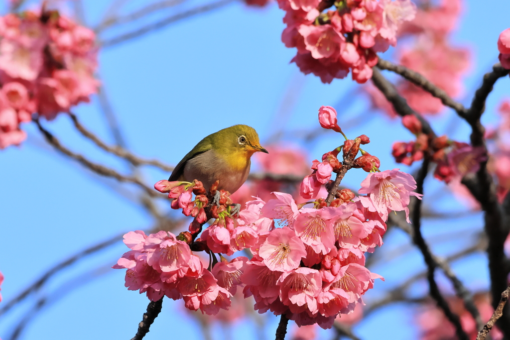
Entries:
{"type": "Polygon", "coordinates": [[[303,242],[294,230],[288,227],[272,230],[259,249],[259,256],[272,271],[286,272],[296,269],[305,255],[307,252],[303,242]]]}

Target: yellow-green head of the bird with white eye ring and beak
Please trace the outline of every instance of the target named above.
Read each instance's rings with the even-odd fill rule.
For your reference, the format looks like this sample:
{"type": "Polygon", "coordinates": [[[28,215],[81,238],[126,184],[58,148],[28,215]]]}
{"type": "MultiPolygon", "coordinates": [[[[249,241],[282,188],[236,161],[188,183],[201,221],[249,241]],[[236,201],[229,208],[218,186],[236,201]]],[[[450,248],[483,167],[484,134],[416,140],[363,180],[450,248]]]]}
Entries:
{"type": "Polygon", "coordinates": [[[248,125],[227,127],[214,135],[214,146],[224,153],[245,154],[247,158],[257,151],[269,153],[260,145],[257,131],[248,125]]]}

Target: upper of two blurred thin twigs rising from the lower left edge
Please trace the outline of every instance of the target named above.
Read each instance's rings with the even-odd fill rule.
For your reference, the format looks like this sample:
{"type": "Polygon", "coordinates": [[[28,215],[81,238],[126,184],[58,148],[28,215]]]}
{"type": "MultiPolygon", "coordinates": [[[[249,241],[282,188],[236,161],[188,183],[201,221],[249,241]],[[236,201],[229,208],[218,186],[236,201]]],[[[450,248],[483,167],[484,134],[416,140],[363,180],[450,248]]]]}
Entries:
{"type": "Polygon", "coordinates": [[[14,305],[16,305],[17,303],[23,301],[25,298],[30,296],[31,293],[35,293],[39,289],[41,289],[41,287],[44,285],[44,283],[46,283],[46,281],[48,281],[50,278],[52,278],[55,274],[59,273],[63,269],[66,269],[67,267],[74,264],[78,260],[83,259],[85,256],[93,254],[99,250],[102,250],[102,249],[114,244],[115,242],[120,241],[122,239],[123,234],[125,234],[125,232],[117,234],[116,236],[114,236],[108,240],[102,241],[98,244],[95,244],[95,245],[89,247],[89,248],[86,248],[86,249],[72,255],[71,257],[67,258],[66,260],[62,261],[61,263],[53,266],[52,268],[47,270],[44,274],[42,274],[41,277],[39,277],[34,283],[32,283],[25,290],[23,290],[21,293],[19,293],[17,296],[15,296],[14,298],[12,298],[11,300],[9,300],[6,303],[3,303],[2,304],[3,306],[0,309],[0,316],[2,316],[4,313],[8,312],[9,309],[11,309],[14,305]]]}

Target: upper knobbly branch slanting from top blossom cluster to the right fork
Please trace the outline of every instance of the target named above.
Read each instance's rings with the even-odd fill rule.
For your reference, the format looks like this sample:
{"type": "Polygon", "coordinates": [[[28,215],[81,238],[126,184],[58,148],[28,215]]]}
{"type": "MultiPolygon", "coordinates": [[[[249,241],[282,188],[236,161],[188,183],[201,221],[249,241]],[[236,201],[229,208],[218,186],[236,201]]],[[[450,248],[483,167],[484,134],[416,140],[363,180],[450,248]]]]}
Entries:
{"type": "Polygon", "coordinates": [[[410,70],[401,65],[393,64],[390,61],[379,58],[377,62],[377,67],[383,70],[389,70],[395,72],[411,83],[421,87],[423,90],[430,93],[432,96],[441,99],[443,104],[455,110],[459,116],[465,118],[467,115],[467,109],[460,102],[456,102],[453,100],[445,91],[432,84],[429,80],[427,80],[420,73],[410,70]]]}

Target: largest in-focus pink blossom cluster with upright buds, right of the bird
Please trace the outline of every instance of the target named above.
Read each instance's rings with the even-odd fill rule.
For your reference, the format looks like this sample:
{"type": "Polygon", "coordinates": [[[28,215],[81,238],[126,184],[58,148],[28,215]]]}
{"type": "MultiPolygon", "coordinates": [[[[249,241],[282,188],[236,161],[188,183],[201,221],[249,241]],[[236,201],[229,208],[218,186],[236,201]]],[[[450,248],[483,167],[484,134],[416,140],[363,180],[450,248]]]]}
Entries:
{"type": "MultiPolygon", "coordinates": [[[[341,132],[333,108],[322,107],[319,120],[341,132]]],[[[352,162],[362,140],[369,141],[364,136],[345,142],[343,164],[336,158],[339,152],[326,153],[322,163],[314,161],[301,195],[312,195],[310,188],[319,193],[331,173],[339,174],[352,162]]],[[[370,157],[367,171],[378,167],[370,157]]],[[[281,227],[259,231],[259,241],[250,247],[253,258],[241,276],[245,296],[254,297],[259,312],[285,314],[297,325],[331,327],[339,313],[352,312],[374,279],[381,278],[364,266],[364,253],[382,245],[390,211],[409,214],[410,196],[420,196],[414,189],[413,177],[394,169],[371,172],[359,190],[367,196],[355,198],[350,190],[341,190],[329,205],[319,197],[311,202],[313,208],[299,207],[291,195],[278,192],[267,203],[258,200],[264,224],[281,227]]]]}

